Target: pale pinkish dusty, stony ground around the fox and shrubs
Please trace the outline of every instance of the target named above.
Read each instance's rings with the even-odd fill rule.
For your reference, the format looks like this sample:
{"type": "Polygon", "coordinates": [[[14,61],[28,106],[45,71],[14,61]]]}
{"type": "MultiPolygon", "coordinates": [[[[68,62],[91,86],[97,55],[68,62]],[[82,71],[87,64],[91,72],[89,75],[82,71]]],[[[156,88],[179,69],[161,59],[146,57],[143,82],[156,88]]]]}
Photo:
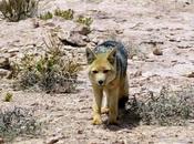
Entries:
{"type": "MultiPolygon", "coordinates": [[[[146,91],[160,92],[163,85],[181,91],[194,84],[194,2],[186,0],[49,0],[40,1],[40,12],[55,8],[73,9],[93,19],[90,43],[108,39],[122,41],[130,51],[130,96],[143,96],[146,91]],[[162,55],[153,54],[159,49],[162,55]]],[[[44,31],[61,28],[72,31],[72,21],[27,19],[19,22],[0,21],[0,58],[14,60],[25,50],[39,52],[44,31]],[[34,28],[34,22],[40,27],[34,28]]],[[[188,126],[149,126],[124,120],[119,126],[91,124],[92,90],[85,71],[85,47],[69,47],[78,51],[82,66],[78,92],[45,94],[13,91],[10,80],[1,79],[1,99],[13,93],[10,103],[35,110],[39,121],[48,123],[40,137],[18,137],[13,144],[193,144],[194,124],[188,126]]],[[[40,50],[41,51],[41,50],[40,50]]],[[[0,74],[6,73],[0,69],[0,74]]],[[[103,115],[103,120],[106,116],[103,115]]]]}

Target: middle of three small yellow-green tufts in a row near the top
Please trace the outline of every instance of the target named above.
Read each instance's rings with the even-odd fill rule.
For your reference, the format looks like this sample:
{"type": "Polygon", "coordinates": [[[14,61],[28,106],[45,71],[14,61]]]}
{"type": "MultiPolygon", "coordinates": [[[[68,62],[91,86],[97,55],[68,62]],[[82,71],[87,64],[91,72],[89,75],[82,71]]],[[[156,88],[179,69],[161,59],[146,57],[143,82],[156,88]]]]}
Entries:
{"type": "Polygon", "coordinates": [[[65,20],[72,20],[73,17],[74,17],[74,11],[72,9],[69,9],[69,10],[60,10],[60,9],[57,9],[54,11],[54,14],[58,16],[58,17],[61,17],[65,20]]]}

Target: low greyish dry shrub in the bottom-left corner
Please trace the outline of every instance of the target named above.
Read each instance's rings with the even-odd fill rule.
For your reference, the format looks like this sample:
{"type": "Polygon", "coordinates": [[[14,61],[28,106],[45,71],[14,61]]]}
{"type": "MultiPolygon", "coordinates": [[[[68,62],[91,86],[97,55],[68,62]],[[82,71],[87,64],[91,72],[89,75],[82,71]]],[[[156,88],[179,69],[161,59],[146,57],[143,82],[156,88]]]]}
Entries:
{"type": "Polygon", "coordinates": [[[4,141],[12,141],[20,135],[37,135],[41,124],[32,112],[23,107],[0,110],[0,135],[4,141]]]}

